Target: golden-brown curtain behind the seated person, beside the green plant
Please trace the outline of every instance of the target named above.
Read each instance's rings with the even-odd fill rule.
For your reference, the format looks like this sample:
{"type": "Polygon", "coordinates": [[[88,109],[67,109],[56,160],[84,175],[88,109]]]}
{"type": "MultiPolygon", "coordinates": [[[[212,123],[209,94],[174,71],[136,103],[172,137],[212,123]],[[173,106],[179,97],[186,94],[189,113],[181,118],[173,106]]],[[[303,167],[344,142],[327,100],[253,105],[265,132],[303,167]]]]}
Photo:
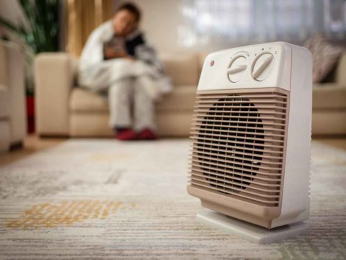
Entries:
{"type": "Polygon", "coordinates": [[[66,0],[66,49],[79,56],[89,34],[97,26],[111,19],[114,0],[66,0]]]}

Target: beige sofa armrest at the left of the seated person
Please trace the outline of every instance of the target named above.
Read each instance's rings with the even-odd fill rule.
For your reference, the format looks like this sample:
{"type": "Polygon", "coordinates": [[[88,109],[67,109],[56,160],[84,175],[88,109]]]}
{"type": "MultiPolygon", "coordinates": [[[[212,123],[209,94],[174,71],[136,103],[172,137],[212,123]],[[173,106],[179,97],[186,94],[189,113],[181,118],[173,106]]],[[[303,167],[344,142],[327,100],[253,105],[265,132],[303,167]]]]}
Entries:
{"type": "Polygon", "coordinates": [[[69,134],[68,102],[75,63],[67,53],[42,53],[35,60],[36,132],[69,134]]]}

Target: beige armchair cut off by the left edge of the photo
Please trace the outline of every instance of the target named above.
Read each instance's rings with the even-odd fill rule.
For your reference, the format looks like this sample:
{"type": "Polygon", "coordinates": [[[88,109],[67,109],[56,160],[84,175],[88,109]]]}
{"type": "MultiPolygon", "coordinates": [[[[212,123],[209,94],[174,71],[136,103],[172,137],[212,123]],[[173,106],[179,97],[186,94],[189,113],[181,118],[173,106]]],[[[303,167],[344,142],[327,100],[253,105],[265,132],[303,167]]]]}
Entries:
{"type": "Polygon", "coordinates": [[[26,135],[24,59],[13,43],[0,41],[0,152],[26,135]]]}

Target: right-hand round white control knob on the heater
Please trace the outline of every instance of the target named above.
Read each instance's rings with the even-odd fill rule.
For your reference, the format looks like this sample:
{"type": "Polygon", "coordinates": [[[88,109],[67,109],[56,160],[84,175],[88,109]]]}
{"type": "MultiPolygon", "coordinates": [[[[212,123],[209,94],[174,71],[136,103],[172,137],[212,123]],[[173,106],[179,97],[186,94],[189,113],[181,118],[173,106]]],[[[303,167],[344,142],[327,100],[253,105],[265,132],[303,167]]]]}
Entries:
{"type": "Polygon", "coordinates": [[[269,52],[260,54],[255,59],[255,61],[253,61],[253,64],[251,67],[251,75],[253,79],[258,80],[259,82],[266,79],[270,75],[270,72],[272,72],[272,69],[274,67],[273,61],[274,61],[273,54],[269,52]]]}

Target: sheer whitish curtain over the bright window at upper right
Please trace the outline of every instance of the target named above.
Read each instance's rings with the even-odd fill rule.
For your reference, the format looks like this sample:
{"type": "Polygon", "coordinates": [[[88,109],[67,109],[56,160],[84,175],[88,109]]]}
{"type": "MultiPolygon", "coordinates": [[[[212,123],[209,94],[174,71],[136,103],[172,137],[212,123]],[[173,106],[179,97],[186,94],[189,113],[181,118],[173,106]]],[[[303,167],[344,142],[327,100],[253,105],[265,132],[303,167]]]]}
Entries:
{"type": "Polygon", "coordinates": [[[182,0],[178,45],[300,44],[315,33],[344,40],[345,13],[345,0],[182,0]]]}

